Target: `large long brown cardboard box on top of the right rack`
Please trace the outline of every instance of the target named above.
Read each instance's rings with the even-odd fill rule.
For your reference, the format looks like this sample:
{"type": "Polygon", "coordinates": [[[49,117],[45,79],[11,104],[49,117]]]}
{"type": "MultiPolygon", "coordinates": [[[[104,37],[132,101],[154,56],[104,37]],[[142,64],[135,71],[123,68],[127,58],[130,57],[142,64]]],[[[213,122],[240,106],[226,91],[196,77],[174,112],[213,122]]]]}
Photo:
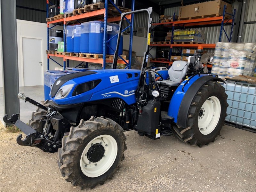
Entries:
{"type": "MultiPolygon", "coordinates": [[[[179,19],[184,19],[184,18],[196,19],[196,17],[201,18],[201,16],[206,16],[206,15],[207,16],[211,15],[213,17],[222,15],[224,5],[226,5],[227,7],[226,12],[232,13],[231,4],[221,0],[208,1],[204,3],[197,3],[197,4],[182,6],[180,7],[179,19]]],[[[225,14],[225,16],[227,18],[231,17],[228,14],[225,14]]]]}

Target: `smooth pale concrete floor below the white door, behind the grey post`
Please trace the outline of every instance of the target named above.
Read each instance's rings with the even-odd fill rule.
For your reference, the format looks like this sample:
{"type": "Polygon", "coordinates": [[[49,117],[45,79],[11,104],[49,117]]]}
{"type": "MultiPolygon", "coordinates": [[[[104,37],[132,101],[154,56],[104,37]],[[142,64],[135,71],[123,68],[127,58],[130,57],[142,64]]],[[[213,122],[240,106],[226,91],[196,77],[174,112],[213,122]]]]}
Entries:
{"type": "MultiPolygon", "coordinates": [[[[37,102],[44,100],[44,86],[26,86],[20,87],[20,92],[25,93],[25,95],[37,102]]],[[[3,98],[3,89],[0,89],[0,121],[3,122],[4,117],[4,98],[3,98]]],[[[31,119],[32,111],[36,110],[36,106],[20,100],[20,120],[24,123],[28,123],[31,119]]]]}

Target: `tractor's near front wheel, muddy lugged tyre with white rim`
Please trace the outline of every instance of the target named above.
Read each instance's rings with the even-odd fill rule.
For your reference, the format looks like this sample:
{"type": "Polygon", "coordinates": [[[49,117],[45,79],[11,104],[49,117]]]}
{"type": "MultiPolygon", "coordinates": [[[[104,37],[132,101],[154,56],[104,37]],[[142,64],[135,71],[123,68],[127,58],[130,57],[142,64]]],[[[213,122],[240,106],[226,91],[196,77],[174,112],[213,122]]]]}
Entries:
{"type": "Polygon", "coordinates": [[[125,140],[122,127],[111,119],[81,120],[77,127],[70,128],[58,149],[62,176],[81,189],[102,185],[124,160],[125,140]]]}

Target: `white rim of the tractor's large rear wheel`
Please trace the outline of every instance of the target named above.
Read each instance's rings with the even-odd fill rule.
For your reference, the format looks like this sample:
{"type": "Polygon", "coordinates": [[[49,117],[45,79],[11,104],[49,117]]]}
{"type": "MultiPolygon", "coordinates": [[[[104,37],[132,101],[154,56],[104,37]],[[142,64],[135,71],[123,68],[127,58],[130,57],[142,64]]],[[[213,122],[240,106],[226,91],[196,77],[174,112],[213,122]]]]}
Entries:
{"type": "Polygon", "coordinates": [[[220,100],[215,97],[209,97],[204,101],[198,114],[198,128],[203,135],[210,134],[217,126],[220,119],[220,100]]]}

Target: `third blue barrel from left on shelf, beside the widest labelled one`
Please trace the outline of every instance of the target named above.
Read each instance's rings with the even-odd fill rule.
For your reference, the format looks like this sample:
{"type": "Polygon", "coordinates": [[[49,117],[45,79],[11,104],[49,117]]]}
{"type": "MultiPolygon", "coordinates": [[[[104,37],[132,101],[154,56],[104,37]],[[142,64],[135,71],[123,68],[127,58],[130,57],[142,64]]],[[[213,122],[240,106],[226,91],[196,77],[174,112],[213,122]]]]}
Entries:
{"type": "Polygon", "coordinates": [[[80,52],[89,53],[90,22],[81,23],[80,52]]]}

